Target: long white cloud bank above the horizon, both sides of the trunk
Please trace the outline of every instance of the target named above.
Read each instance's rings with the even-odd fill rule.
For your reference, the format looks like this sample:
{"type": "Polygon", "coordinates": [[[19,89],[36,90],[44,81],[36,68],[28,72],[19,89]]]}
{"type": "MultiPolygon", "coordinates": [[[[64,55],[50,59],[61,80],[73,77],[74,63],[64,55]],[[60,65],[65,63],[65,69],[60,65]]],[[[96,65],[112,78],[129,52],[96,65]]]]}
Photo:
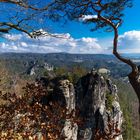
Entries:
{"type": "MultiPolygon", "coordinates": [[[[31,39],[26,34],[5,35],[0,42],[0,52],[32,52],[32,53],[111,53],[112,39],[92,37],[73,38],[69,33],[55,34],[58,38],[42,36],[31,39]]],[[[119,52],[140,53],[140,31],[128,31],[119,36],[119,52]]]]}

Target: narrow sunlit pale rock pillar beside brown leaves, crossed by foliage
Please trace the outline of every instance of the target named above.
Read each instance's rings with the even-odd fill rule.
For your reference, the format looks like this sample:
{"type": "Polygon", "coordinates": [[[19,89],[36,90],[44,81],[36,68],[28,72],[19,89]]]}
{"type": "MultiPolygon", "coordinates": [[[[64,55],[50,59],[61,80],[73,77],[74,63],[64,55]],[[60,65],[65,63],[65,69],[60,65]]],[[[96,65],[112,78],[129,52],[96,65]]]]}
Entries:
{"type": "MultiPolygon", "coordinates": [[[[67,114],[73,113],[75,111],[75,90],[72,83],[69,80],[61,80],[59,82],[60,94],[64,95],[67,114]]],[[[64,128],[62,130],[62,135],[65,140],[77,140],[78,125],[73,123],[71,119],[66,119],[64,128]]]]}

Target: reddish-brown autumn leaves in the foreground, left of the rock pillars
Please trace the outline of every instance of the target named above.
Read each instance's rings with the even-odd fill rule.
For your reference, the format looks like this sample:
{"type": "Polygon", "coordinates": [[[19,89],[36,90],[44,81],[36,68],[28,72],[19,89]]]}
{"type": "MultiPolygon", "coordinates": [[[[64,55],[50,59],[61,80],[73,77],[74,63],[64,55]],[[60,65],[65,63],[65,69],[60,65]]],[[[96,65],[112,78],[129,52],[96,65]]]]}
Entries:
{"type": "MultiPolygon", "coordinates": [[[[0,106],[0,138],[44,139],[61,137],[66,109],[55,101],[43,101],[49,93],[40,84],[27,84],[23,96],[1,94],[6,104],[0,106]]],[[[62,138],[63,139],[63,138],[62,138]]]]}

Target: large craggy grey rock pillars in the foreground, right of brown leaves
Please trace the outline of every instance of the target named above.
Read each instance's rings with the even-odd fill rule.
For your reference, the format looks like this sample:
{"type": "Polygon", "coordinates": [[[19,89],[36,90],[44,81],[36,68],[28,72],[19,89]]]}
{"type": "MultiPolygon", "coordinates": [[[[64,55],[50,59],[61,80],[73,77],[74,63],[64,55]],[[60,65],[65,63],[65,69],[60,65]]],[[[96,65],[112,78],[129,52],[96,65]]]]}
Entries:
{"type": "Polygon", "coordinates": [[[117,87],[98,73],[89,73],[79,79],[75,89],[68,80],[60,81],[68,113],[79,110],[83,125],[72,126],[66,120],[63,134],[66,140],[122,140],[123,121],[118,102],[117,87]]]}

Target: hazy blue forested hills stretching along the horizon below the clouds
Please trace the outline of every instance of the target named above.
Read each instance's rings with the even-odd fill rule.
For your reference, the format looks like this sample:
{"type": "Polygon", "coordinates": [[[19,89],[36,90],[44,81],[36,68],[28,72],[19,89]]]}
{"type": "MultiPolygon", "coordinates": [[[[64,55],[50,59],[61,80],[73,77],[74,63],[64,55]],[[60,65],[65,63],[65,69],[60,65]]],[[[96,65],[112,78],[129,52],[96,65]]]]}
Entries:
{"type": "Polygon", "coordinates": [[[11,73],[25,73],[35,63],[38,66],[49,63],[54,68],[74,66],[91,70],[93,67],[107,68],[113,77],[125,77],[130,69],[113,55],[108,54],[69,54],[69,53],[1,53],[0,61],[4,61],[11,73]]]}

